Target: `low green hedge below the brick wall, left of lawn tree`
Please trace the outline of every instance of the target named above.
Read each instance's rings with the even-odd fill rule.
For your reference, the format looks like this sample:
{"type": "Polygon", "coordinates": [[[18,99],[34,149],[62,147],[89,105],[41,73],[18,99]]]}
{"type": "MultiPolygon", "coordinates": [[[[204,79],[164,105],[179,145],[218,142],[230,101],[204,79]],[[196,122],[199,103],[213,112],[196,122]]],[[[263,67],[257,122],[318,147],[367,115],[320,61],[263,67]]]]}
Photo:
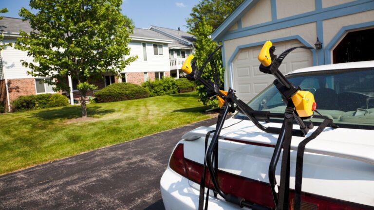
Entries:
{"type": "Polygon", "coordinates": [[[52,108],[57,106],[68,105],[68,99],[61,94],[39,94],[19,96],[12,103],[14,111],[52,108]]]}

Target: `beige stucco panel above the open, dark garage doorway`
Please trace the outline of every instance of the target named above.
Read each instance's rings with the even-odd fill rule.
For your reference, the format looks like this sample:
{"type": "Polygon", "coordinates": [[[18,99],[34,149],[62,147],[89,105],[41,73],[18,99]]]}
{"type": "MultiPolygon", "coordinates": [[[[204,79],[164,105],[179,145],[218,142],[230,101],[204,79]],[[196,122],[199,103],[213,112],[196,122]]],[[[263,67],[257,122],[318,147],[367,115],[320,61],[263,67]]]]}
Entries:
{"type": "Polygon", "coordinates": [[[349,16],[332,18],[323,21],[323,36],[325,46],[331,42],[337,32],[344,26],[374,21],[374,10],[349,16]]]}

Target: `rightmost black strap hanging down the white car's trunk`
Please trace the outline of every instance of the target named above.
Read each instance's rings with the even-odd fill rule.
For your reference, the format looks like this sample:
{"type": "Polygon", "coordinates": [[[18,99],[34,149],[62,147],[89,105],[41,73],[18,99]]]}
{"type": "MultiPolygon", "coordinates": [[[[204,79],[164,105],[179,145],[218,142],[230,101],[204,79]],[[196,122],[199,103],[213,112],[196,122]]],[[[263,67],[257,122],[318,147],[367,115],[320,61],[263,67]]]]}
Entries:
{"type": "Polygon", "coordinates": [[[294,210],[300,210],[301,208],[302,164],[304,160],[305,146],[309,141],[314,140],[329,124],[334,123],[331,119],[325,118],[325,120],[318,126],[317,130],[299,143],[298,154],[296,157],[294,210]]]}

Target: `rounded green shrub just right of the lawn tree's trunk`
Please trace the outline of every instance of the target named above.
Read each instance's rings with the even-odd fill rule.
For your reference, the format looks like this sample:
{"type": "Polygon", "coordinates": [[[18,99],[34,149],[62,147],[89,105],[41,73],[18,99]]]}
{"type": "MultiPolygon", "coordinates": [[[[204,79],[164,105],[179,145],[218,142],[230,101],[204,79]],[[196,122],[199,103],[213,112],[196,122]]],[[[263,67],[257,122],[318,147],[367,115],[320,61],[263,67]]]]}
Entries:
{"type": "Polygon", "coordinates": [[[149,91],[131,83],[114,83],[94,93],[97,102],[115,102],[149,97],[149,91]]]}

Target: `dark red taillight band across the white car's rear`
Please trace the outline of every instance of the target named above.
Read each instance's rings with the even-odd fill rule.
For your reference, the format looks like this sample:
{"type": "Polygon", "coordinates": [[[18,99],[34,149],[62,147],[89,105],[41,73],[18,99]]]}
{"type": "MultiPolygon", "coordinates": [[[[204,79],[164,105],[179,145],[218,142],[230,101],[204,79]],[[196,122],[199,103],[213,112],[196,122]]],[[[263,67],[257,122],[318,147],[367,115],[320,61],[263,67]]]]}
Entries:
{"type": "MultiPolygon", "coordinates": [[[[184,157],[183,144],[178,144],[171,155],[169,166],[176,173],[200,184],[203,165],[184,157]]],[[[213,189],[206,169],[206,186],[213,189]]],[[[224,171],[218,172],[218,184],[226,194],[233,194],[246,201],[275,209],[273,196],[268,183],[234,175],[224,171]]],[[[302,193],[301,210],[373,210],[373,207],[311,193],[302,193]]],[[[293,209],[294,191],[290,192],[290,210],[293,209]]]]}

